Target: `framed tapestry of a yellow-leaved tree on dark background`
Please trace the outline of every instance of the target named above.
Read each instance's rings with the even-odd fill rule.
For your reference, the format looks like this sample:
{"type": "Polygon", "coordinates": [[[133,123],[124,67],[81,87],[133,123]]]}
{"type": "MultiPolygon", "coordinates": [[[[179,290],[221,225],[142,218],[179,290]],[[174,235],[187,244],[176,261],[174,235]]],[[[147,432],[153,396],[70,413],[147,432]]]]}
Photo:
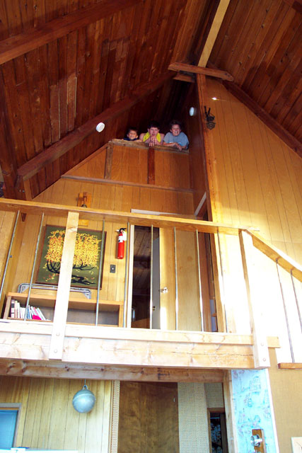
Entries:
{"type": "MultiPolygon", "coordinates": [[[[41,260],[37,272],[37,283],[44,283],[46,285],[58,284],[64,237],[64,226],[45,226],[41,260]]],[[[101,263],[102,277],[105,241],[106,233],[104,233],[104,253],[101,263]]],[[[98,287],[101,245],[102,231],[78,229],[76,234],[76,247],[74,250],[71,286],[88,287],[92,289],[98,287]]],[[[102,287],[102,282],[100,282],[100,287],[102,287]]]]}

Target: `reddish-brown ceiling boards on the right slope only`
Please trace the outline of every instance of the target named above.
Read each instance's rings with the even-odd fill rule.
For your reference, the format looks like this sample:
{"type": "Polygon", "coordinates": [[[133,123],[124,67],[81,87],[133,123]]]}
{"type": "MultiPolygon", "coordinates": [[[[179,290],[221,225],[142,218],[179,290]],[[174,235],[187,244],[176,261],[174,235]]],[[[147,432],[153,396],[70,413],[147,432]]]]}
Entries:
{"type": "Polygon", "coordinates": [[[231,0],[210,62],[301,141],[302,15],[294,3],[231,0]]]}

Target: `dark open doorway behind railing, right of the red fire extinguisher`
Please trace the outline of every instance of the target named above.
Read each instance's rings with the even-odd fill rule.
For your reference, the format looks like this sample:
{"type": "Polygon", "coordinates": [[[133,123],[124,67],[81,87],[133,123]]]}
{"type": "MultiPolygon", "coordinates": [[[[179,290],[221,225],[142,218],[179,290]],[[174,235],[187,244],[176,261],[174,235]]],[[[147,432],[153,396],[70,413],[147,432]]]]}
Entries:
{"type": "Polygon", "coordinates": [[[136,225],[131,326],[160,328],[159,314],[159,229],[136,225]]]}

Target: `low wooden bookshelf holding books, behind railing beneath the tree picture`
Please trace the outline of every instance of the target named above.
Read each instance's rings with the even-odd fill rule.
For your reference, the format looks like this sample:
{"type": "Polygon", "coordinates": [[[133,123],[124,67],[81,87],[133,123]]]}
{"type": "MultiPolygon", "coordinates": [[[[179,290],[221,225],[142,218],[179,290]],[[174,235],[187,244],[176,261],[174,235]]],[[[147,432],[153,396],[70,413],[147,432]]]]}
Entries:
{"type": "MultiPolygon", "coordinates": [[[[11,312],[11,299],[16,299],[18,302],[25,305],[28,299],[28,293],[21,292],[8,292],[6,297],[6,306],[4,309],[4,319],[10,319],[9,315],[11,312]]],[[[30,294],[30,305],[42,307],[49,307],[54,309],[56,302],[56,295],[49,294],[30,294]]],[[[118,327],[122,327],[123,323],[123,305],[124,302],[100,300],[99,301],[99,312],[117,312],[118,316],[118,327]]],[[[95,311],[96,299],[86,299],[85,297],[69,297],[69,309],[83,310],[83,311],[95,311]]],[[[13,319],[13,318],[12,318],[13,319]]],[[[31,321],[31,320],[28,320],[31,321]]],[[[35,320],[32,320],[35,321],[35,320]]]]}

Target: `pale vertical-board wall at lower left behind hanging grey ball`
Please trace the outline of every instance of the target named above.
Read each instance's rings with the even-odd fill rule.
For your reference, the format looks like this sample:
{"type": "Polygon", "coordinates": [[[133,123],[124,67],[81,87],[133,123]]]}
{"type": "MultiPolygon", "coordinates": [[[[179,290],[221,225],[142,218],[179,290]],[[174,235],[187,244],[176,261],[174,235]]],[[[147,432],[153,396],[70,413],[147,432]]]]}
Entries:
{"type": "Polygon", "coordinates": [[[87,381],[96,402],[78,413],[72,398],[83,387],[78,379],[0,376],[0,402],[21,403],[16,445],[107,453],[110,442],[112,382],[87,381]]]}

